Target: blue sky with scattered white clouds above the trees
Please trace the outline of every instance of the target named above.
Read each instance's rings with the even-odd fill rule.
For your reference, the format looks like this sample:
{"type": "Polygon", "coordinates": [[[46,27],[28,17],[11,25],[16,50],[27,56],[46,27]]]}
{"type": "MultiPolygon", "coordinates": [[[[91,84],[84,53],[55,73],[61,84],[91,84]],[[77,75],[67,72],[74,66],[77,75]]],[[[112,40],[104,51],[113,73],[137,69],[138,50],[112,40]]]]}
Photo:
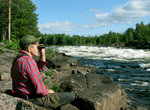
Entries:
{"type": "Polygon", "coordinates": [[[150,23],[150,0],[32,0],[41,33],[94,36],[150,23]]]}

